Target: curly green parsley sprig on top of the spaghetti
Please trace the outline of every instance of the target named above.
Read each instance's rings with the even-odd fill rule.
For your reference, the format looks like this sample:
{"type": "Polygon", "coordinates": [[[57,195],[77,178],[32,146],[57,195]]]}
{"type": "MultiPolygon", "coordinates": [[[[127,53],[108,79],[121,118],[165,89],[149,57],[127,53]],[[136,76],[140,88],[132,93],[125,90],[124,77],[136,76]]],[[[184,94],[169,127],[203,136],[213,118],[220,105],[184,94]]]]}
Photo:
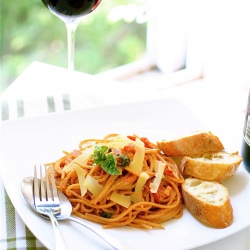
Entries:
{"type": "Polygon", "coordinates": [[[102,169],[110,174],[117,175],[120,174],[119,169],[116,167],[117,161],[112,153],[106,154],[106,146],[95,146],[95,151],[93,154],[94,163],[101,165],[102,169]]]}

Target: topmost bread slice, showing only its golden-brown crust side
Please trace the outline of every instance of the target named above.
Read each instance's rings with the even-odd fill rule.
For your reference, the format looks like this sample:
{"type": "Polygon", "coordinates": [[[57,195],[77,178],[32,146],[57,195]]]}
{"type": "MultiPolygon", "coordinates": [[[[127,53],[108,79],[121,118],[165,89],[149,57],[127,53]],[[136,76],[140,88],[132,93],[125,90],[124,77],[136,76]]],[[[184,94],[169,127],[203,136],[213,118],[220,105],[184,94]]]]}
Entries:
{"type": "Polygon", "coordinates": [[[200,155],[224,149],[220,139],[211,132],[195,132],[173,140],[157,142],[157,145],[166,156],[172,157],[200,155]]]}

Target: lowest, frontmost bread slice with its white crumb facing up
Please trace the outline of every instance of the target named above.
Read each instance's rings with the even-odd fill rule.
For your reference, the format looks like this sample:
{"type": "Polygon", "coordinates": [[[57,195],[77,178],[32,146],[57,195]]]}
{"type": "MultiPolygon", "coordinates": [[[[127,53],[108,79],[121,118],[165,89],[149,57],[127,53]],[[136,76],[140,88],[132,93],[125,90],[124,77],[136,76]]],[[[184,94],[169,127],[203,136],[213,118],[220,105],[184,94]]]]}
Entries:
{"type": "Polygon", "coordinates": [[[187,178],[182,184],[182,194],[186,208],[201,222],[215,228],[232,224],[228,190],[220,183],[187,178]]]}

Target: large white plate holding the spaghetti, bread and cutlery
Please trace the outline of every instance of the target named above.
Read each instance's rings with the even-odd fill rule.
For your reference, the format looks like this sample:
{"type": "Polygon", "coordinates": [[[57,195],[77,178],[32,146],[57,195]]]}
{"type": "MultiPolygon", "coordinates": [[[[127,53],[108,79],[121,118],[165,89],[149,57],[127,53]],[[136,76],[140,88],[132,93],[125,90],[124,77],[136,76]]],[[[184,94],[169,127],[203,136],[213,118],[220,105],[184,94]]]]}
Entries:
{"type": "MultiPolygon", "coordinates": [[[[73,150],[82,139],[107,133],[136,133],[152,141],[201,129],[198,119],[174,99],[117,105],[77,112],[65,112],[2,123],[0,171],[5,188],[17,212],[48,248],[54,246],[50,222],[37,216],[24,200],[20,184],[33,174],[35,162],[54,161],[62,150],[73,150]]],[[[230,135],[229,135],[230,136],[230,135]]],[[[236,149],[239,150],[239,149],[236,149]]],[[[250,181],[244,166],[224,184],[228,187],[234,222],[225,229],[207,227],[186,210],[183,217],[165,223],[164,230],[118,228],[106,230],[134,249],[190,249],[232,235],[249,225],[250,181]]],[[[60,222],[70,249],[108,249],[98,237],[74,222],[60,222]]],[[[95,224],[101,228],[100,225],[95,224]]]]}

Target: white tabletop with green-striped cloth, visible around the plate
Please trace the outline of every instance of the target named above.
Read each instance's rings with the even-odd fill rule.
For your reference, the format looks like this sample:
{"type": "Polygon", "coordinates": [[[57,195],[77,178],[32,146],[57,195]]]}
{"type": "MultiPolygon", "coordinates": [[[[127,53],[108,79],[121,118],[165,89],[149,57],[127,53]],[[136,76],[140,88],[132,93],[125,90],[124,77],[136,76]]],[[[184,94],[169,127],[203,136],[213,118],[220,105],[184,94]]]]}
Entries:
{"type": "MultiPolygon", "coordinates": [[[[171,97],[183,102],[215,134],[226,126],[241,135],[250,84],[210,78],[173,85],[167,79],[123,83],[34,62],[2,93],[0,119],[4,122],[51,112],[171,97]]],[[[15,212],[1,179],[0,202],[0,249],[43,249],[15,212]]],[[[249,236],[248,227],[197,250],[249,249],[249,236]]]]}

